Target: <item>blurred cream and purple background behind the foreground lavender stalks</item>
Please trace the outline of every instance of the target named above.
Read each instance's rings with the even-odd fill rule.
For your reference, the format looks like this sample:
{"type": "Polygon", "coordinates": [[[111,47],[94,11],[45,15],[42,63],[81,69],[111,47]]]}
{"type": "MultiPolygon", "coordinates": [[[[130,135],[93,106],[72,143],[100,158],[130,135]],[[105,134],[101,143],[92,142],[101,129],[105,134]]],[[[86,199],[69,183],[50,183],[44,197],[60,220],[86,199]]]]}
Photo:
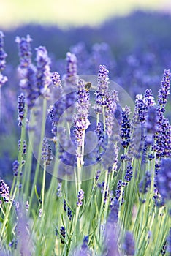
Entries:
{"type": "MultiPolygon", "coordinates": [[[[20,94],[15,37],[31,36],[43,45],[51,71],[66,72],[66,53],[77,56],[78,74],[97,75],[99,64],[110,70],[132,99],[145,89],[157,97],[164,69],[171,69],[170,0],[0,0],[8,82],[1,88],[0,176],[10,179],[18,155],[17,100],[20,94]]],[[[166,115],[170,118],[170,102],[166,115]]]]}

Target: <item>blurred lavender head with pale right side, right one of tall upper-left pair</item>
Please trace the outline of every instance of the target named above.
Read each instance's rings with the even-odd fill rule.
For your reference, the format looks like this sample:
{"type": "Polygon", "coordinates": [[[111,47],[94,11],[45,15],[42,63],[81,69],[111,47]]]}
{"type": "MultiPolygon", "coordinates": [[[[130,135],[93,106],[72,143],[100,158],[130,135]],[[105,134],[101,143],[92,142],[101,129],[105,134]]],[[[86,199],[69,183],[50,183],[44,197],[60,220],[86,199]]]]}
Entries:
{"type": "Polygon", "coordinates": [[[51,84],[51,73],[50,73],[50,58],[47,55],[47,50],[44,46],[39,46],[37,50],[37,88],[39,94],[48,96],[48,87],[51,84]]]}

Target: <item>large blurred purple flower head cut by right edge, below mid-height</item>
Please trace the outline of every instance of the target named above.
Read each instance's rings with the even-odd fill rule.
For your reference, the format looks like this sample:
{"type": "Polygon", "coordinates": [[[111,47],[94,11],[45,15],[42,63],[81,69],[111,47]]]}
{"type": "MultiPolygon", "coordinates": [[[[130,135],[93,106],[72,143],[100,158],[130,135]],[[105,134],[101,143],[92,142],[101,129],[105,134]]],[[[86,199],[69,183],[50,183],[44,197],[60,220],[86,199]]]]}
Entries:
{"type": "Polygon", "coordinates": [[[156,177],[156,186],[164,200],[171,198],[171,159],[161,159],[161,166],[156,177]]]}

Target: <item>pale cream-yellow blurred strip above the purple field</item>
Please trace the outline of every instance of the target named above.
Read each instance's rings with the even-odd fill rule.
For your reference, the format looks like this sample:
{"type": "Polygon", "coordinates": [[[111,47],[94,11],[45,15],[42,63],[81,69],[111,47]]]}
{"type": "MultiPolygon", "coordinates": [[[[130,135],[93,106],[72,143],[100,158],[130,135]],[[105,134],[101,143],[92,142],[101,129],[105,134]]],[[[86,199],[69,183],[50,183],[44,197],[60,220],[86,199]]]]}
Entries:
{"type": "Polygon", "coordinates": [[[170,0],[1,0],[0,25],[10,29],[26,23],[98,26],[113,16],[134,10],[171,12],[170,0]]]}

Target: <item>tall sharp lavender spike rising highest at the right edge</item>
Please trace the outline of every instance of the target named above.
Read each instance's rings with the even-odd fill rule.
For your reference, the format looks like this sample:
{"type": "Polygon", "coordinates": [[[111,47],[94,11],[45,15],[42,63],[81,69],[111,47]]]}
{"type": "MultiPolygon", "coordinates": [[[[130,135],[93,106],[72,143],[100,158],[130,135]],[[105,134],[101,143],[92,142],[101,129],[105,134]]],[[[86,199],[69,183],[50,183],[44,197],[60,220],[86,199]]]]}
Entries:
{"type": "Polygon", "coordinates": [[[161,87],[159,89],[159,96],[158,96],[158,103],[162,112],[164,112],[165,105],[167,103],[167,98],[170,94],[170,80],[171,80],[171,73],[170,69],[164,69],[163,79],[161,80],[161,87]]]}

